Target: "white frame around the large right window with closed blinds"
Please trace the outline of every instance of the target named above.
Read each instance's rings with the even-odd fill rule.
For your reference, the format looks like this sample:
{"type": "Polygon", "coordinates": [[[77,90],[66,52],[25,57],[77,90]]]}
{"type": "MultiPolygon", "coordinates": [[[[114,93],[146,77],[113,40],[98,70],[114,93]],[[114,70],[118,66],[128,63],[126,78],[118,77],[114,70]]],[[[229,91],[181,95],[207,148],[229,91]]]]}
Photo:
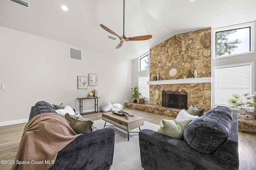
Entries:
{"type": "MultiPolygon", "coordinates": [[[[251,66],[251,90],[250,93],[254,94],[254,61],[252,62],[245,62],[245,63],[236,63],[236,64],[227,64],[227,65],[220,65],[220,66],[214,66],[212,69],[212,76],[214,77],[213,82],[212,82],[212,107],[216,107],[217,105],[215,104],[215,70],[220,69],[220,68],[230,68],[230,67],[237,67],[237,66],[246,66],[249,65],[251,66]]],[[[236,92],[234,92],[236,93],[236,92]]],[[[230,97],[232,98],[232,97],[230,97]]],[[[238,107],[231,107],[230,109],[232,110],[238,110],[238,107]]],[[[253,107],[248,107],[247,108],[248,112],[253,112],[253,107]]]]}

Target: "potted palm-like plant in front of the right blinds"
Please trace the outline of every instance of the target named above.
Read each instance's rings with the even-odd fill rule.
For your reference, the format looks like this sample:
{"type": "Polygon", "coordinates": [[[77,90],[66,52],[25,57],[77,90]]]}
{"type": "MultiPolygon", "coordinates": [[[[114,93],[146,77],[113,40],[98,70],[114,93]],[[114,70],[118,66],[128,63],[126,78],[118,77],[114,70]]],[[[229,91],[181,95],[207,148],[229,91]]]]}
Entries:
{"type": "Polygon", "coordinates": [[[233,98],[228,100],[228,104],[232,105],[231,107],[239,107],[239,114],[246,115],[247,107],[255,107],[256,103],[253,102],[253,98],[250,93],[245,92],[242,95],[232,94],[233,98]]]}

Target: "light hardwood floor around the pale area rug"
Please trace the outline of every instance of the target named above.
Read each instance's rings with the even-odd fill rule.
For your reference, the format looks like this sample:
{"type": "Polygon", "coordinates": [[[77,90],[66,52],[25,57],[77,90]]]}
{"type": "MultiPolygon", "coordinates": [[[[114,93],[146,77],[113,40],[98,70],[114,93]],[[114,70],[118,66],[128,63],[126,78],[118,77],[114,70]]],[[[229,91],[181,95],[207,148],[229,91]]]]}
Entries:
{"type": "MultiPolygon", "coordinates": [[[[145,121],[160,125],[162,119],[174,119],[144,111],[124,108],[130,114],[144,117],[145,121]]],[[[92,121],[102,118],[102,112],[82,115],[92,121]]],[[[26,123],[0,127],[0,160],[14,160],[26,123]]],[[[238,133],[239,170],[256,170],[256,135],[238,133]]],[[[0,170],[10,170],[11,165],[0,164],[0,170]]]]}

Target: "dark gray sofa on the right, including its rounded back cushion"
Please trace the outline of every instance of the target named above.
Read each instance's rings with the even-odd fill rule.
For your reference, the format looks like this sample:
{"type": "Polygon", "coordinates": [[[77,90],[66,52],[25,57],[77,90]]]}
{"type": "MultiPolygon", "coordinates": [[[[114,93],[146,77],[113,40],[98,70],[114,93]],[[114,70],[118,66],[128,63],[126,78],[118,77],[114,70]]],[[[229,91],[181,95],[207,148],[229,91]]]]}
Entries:
{"type": "Polygon", "coordinates": [[[149,129],[140,131],[139,140],[144,170],[238,170],[239,167],[238,115],[227,107],[218,106],[191,121],[184,131],[185,141],[149,129]]]}

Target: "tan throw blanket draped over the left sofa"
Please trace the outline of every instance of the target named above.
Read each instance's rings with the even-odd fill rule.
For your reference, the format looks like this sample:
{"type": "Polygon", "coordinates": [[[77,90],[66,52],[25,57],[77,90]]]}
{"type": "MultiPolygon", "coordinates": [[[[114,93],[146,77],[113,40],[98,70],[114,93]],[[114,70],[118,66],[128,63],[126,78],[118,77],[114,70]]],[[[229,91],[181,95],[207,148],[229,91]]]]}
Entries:
{"type": "Polygon", "coordinates": [[[55,162],[58,151],[80,135],[61,115],[36,115],[24,128],[12,170],[47,170],[55,162]]]}

